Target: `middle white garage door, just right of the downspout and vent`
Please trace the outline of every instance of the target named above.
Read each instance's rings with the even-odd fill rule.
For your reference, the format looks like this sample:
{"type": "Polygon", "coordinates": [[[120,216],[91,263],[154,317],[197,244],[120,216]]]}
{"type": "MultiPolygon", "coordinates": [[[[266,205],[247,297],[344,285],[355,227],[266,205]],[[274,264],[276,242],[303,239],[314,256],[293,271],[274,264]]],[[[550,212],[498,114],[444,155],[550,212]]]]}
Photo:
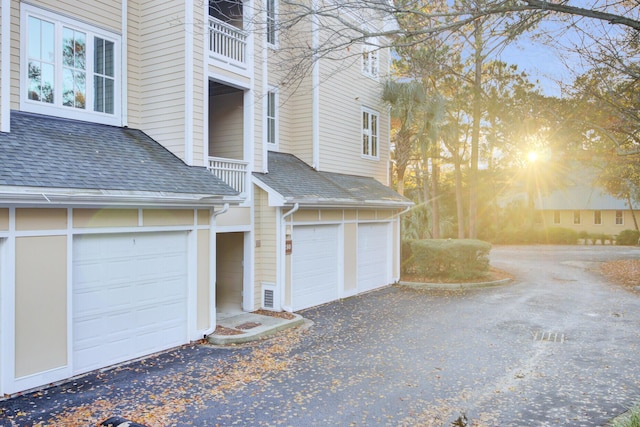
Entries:
{"type": "Polygon", "coordinates": [[[294,311],[338,299],[338,230],[337,225],[294,227],[294,311]]]}

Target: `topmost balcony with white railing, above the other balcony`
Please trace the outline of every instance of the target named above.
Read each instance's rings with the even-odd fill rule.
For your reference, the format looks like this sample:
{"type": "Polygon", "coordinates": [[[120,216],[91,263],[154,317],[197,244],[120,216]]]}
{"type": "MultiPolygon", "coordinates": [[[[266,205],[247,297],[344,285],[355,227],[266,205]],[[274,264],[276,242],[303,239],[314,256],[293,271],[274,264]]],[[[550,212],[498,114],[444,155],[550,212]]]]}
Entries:
{"type": "Polygon", "coordinates": [[[209,1],[209,58],[236,72],[247,71],[247,41],[241,1],[209,1]]]}

